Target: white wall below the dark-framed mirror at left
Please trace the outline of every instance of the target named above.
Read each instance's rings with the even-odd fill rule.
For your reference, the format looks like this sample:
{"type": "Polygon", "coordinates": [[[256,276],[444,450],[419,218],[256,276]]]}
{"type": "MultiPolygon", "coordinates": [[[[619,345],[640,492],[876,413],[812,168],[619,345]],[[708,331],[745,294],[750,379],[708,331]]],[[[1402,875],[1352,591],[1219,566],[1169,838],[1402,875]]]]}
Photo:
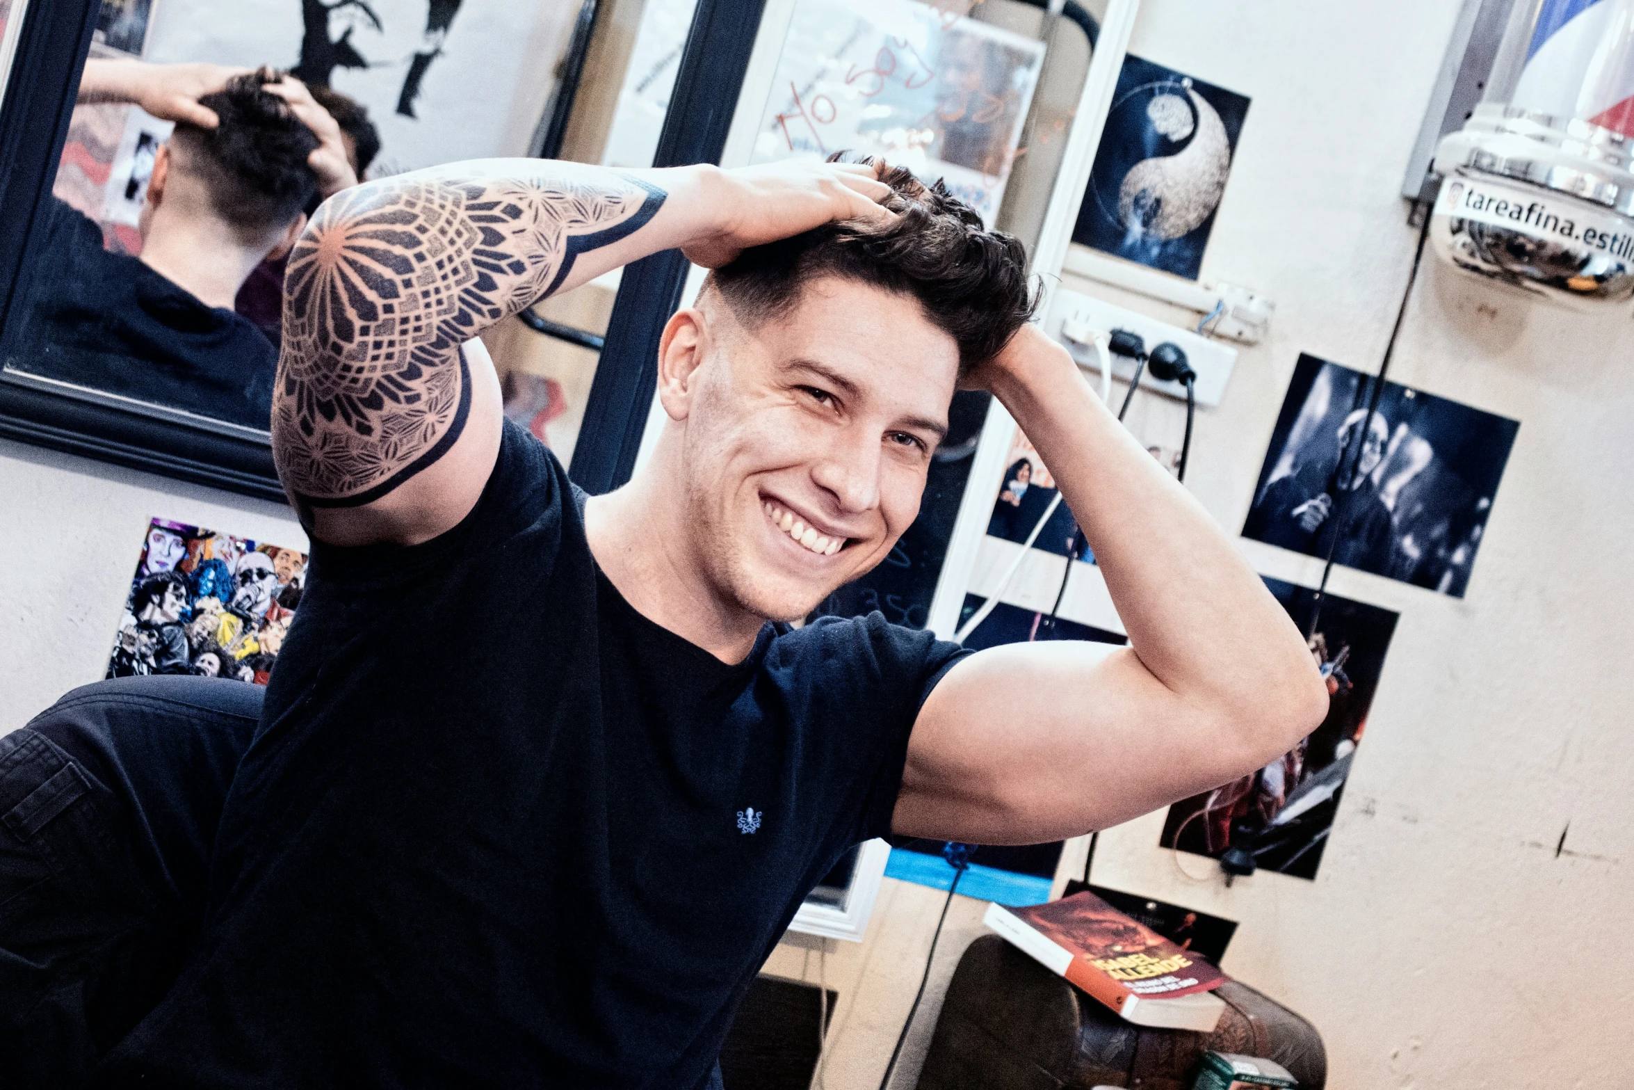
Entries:
{"type": "Polygon", "coordinates": [[[307,547],[281,503],[0,440],[0,734],[103,677],[155,516],[307,547]]]}

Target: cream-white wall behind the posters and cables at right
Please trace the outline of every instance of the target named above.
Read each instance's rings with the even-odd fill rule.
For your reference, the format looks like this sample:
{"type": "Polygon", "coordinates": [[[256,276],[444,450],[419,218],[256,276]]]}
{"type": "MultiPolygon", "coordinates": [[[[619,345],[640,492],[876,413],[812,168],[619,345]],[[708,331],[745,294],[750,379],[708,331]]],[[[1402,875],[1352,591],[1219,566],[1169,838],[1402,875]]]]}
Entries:
{"type": "MultiPolygon", "coordinates": [[[[1203,276],[1270,294],[1276,322],[1199,415],[1188,472],[1232,533],[1299,353],[1379,366],[1417,240],[1395,193],[1456,11],[1456,0],[1142,8],[1131,52],[1253,98],[1203,276]]],[[[1240,920],[1224,967],[1317,1025],[1333,1090],[1634,1085],[1631,312],[1544,309],[1426,257],[1391,377],[1518,418],[1520,436],[1464,600],[1333,572],[1333,593],[1400,623],[1317,879],[1257,874],[1226,889],[1190,855],[1188,879],[1157,847],[1162,812],[1101,838],[1098,882],[1240,920]]],[[[1136,423],[1178,435],[1180,412],[1154,399],[1136,423]]],[[[1242,549],[1266,575],[1320,579],[1319,561],[1242,549]]],[[[1052,596],[1059,561],[1051,572],[1052,596]]],[[[879,1083],[941,899],[886,879],[869,941],[828,946],[822,969],[840,990],[828,1090],[879,1083]]],[[[956,899],[895,1087],[917,1079],[980,909],[956,899]]],[[[814,982],[817,967],[792,945],[768,964],[814,982]]]]}

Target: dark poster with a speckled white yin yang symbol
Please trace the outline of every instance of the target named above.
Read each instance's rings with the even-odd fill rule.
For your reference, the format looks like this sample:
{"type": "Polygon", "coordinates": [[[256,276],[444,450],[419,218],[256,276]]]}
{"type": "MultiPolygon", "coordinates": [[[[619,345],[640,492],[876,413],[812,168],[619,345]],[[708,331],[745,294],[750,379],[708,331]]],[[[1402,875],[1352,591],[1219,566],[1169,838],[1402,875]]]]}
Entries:
{"type": "Polygon", "coordinates": [[[1072,240],[1196,279],[1248,98],[1124,57],[1072,240]]]}

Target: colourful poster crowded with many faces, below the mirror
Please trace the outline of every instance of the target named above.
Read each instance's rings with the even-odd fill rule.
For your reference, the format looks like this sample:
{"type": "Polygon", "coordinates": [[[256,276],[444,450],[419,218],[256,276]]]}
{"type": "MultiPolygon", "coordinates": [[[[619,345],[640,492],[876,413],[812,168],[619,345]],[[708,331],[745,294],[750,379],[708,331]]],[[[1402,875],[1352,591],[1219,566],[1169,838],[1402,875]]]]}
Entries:
{"type": "Polygon", "coordinates": [[[196,673],[266,685],[301,605],[307,557],[155,518],[105,677],[196,673]]]}

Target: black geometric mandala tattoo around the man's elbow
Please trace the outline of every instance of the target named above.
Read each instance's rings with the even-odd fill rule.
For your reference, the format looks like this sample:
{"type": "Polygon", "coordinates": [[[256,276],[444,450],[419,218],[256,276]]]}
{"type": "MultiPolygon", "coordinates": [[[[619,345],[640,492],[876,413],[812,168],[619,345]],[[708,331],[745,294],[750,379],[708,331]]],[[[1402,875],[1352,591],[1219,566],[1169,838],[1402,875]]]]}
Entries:
{"type": "Polygon", "coordinates": [[[273,402],[304,505],[358,507],[441,458],[471,409],[461,345],[650,221],[626,176],[386,180],[332,198],[289,255],[273,402]]]}

